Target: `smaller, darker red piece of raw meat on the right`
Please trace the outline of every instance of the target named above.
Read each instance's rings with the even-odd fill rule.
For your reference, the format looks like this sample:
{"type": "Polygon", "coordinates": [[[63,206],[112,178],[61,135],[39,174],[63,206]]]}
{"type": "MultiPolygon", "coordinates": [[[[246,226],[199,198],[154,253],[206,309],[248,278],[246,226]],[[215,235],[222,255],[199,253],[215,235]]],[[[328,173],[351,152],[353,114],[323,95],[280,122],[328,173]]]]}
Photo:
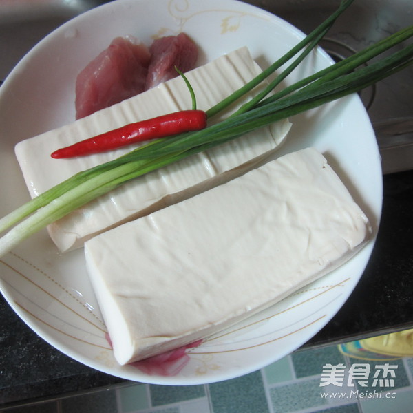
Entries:
{"type": "Polygon", "coordinates": [[[198,47],[184,33],[156,39],[149,47],[149,52],[152,56],[146,89],[151,89],[151,87],[178,76],[175,66],[181,72],[193,69],[198,59],[198,47]]]}

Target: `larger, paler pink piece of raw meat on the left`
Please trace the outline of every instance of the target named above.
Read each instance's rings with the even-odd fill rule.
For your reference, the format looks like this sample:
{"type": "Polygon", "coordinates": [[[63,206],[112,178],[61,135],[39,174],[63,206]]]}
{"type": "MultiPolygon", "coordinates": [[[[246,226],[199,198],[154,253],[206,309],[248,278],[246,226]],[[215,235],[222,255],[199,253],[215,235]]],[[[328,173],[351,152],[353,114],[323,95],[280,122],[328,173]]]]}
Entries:
{"type": "Polygon", "coordinates": [[[76,119],[143,92],[150,59],[145,45],[114,39],[76,78],[76,119]]]}

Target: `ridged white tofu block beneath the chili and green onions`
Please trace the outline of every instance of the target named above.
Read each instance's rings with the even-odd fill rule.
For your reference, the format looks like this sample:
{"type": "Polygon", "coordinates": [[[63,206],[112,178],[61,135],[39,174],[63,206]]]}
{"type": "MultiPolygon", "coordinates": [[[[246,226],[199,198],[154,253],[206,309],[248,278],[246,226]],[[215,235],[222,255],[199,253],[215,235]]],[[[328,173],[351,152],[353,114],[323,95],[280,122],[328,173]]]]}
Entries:
{"type": "MultiPolygon", "coordinates": [[[[242,47],[186,75],[194,89],[198,109],[206,110],[260,71],[248,49],[242,47]]],[[[249,98],[252,94],[248,95],[249,98]]],[[[223,116],[242,102],[233,105],[223,116]]],[[[54,150],[128,123],[182,109],[191,109],[191,96],[179,76],[70,125],[19,142],[15,151],[30,195],[34,198],[78,171],[113,160],[134,147],[61,160],[50,157],[54,150]]],[[[255,165],[274,151],[289,129],[290,123],[284,120],[128,182],[48,226],[50,236],[61,251],[82,246],[89,237],[119,223],[209,189],[221,180],[233,178],[243,167],[255,165]]]]}

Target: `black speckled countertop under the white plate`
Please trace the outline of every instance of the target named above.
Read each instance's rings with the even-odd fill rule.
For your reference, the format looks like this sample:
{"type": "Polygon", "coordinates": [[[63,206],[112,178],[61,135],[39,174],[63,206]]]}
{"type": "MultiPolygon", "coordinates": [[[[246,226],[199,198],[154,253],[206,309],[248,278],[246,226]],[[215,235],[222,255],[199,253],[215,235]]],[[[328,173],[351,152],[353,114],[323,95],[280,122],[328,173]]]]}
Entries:
{"type": "MultiPolygon", "coordinates": [[[[383,177],[383,215],[372,257],[339,313],[305,347],[413,328],[413,171],[383,177]]],[[[0,407],[122,383],[38,337],[0,299],[0,407]]]]}

